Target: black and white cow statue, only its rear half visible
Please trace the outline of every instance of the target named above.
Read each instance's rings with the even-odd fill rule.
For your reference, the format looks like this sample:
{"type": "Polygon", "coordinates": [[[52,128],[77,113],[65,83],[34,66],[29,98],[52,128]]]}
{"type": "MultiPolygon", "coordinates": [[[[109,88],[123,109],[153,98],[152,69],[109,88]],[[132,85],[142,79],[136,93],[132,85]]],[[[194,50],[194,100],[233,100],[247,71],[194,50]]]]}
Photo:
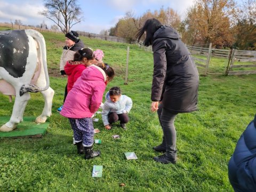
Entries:
{"type": "Polygon", "coordinates": [[[33,29],[0,31],[0,92],[15,95],[10,121],[0,131],[12,131],[23,121],[29,92],[43,95],[44,109],[36,123],[44,123],[51,115],[54,95],[49,85],[43,35],[33,29]]]}

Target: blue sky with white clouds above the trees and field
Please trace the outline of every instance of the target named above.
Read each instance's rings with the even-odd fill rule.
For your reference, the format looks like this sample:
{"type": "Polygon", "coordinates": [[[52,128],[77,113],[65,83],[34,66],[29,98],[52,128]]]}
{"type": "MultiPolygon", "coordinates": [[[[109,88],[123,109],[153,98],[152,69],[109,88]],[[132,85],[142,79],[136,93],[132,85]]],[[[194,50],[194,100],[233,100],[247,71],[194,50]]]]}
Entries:
{"type": "MultiPolygon", "coordinates": [[[[237,0],[242,1],[242,0],[237,0]]],[[[127,11],[140,17],[147,10],[154,12],[163,6],[171,7],[184,17],[193,0],[78,0],[83,11],[83,21],[71,28],[99,34],[102,29],[114,27],[127,11]]],[[[43,21],[50,28],[54,23],[38,11],[44,9],[43,0],[0,0],[0,22],[21,20],[23,25],[40,25],[43,21]]]]}

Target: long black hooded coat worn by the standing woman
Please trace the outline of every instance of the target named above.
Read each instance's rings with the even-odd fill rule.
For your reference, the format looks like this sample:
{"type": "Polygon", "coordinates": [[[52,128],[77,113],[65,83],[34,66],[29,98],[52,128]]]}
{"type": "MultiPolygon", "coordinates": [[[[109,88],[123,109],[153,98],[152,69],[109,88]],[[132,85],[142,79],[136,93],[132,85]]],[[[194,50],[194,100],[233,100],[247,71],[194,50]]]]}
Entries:
{"type": "Polygon", "coordinates": [[[161,26],[153,36],[154,75],[151,100],[162,101],[173,113],[197,109],[198,71],[186,45],[171,27],[161,26]]]}

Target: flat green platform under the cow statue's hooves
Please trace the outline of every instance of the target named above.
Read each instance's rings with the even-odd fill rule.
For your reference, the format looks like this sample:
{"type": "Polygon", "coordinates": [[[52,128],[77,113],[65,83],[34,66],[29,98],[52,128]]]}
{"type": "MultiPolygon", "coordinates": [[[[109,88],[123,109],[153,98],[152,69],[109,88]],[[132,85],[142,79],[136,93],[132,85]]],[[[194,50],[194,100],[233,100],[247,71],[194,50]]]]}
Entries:
{"type": "MultiPolygon", "coordinates": [[[[0,126],[8,122],[10,116],[0,117],[0,126]]],[[[1,132],[0,138],[20,138],[20,137],[43,137],[46,133],[49,122],[35,123],[36,117],[23,117],[23,122],[17,125],[17,128],[10,132],[1,132]]]]}

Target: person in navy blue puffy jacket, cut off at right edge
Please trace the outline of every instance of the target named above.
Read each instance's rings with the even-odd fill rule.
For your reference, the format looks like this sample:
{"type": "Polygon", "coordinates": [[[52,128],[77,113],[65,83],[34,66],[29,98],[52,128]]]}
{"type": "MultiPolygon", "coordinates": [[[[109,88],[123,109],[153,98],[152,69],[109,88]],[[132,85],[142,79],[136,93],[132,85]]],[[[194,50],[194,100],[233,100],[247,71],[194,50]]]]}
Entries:
{"type": "Polygon", "coordinates": [[[256,191],[256,114],[237,141],[228,163],[228,178],[236,192],[256,191]]]}

